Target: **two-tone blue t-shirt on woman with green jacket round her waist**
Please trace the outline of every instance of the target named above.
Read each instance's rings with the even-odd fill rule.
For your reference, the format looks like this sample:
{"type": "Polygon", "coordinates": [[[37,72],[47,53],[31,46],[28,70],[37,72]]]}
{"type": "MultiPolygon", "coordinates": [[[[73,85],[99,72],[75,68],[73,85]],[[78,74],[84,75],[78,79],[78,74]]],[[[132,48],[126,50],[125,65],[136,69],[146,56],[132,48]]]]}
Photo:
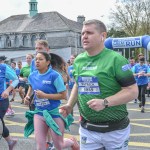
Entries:
{"type": "MultiPolygon", "coordinates": [[[[28,81],[33,91],[41,90],[47,94],[56,94],[66,90],[62,76],[51,68],[44,74],[40,74],[38,70],[33,71],[29,75],[28,81]]],[[[52,110],[61,102],[60,100],[39,99],[34,94],[34,103],[38,110],[52,110]]]]}

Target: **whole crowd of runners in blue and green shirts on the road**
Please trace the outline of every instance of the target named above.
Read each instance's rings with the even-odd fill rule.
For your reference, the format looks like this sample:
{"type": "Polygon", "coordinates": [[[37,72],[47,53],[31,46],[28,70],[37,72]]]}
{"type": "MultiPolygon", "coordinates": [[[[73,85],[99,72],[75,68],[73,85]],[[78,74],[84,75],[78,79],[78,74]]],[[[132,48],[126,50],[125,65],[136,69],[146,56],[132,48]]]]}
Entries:
{"type": "MultiPolygon", "coordinates": [[[[57,150],[127,150],[130,120],[126,104],[139,101],[141,112],[145,112],[150,69],[143,54],[139,54],[135,63],[134,58],[128,61],[107,49],[106,37],[103,22],[88,20],[81,32],[85,52],[78,56],[72,54],[67,62],[58,56],[59,63],[53,61],[54,55],[46,40],[35,42],[36,54],[26,55],[24,67],[21,61],[17,62],[17,68],[16,62],[6,65],[1,56],[1,119],[5,113],[11,115],[10,111],[15,114],[9,94],[12,94],[10,102],[14,102],[19,92],[21,104],[29,105],[24,135],[28,137],[34,131],[37,150],[54,147],[57,150]],[[66,104],[61,105],[61,100],[66,100],[66,104]],[[80,113],[80,144],[73,136],[64,138],[65,129],[69,129],[74,120],[76,104],[80,113]]],[[[9,150],[13,150],[17,140],[9,136],[5,123],[3,137],[9,150]]]]}

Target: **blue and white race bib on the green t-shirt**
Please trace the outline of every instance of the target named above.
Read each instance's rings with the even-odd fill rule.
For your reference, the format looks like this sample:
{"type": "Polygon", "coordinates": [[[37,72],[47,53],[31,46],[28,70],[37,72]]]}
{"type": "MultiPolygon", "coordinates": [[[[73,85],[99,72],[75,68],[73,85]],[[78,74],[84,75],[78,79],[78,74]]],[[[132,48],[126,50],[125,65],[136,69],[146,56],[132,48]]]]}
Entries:
{"type": "Polygon", "coordinates": [[[78,77],[79,94],[99,95],[100,87],[97,77],[78,77]]]}

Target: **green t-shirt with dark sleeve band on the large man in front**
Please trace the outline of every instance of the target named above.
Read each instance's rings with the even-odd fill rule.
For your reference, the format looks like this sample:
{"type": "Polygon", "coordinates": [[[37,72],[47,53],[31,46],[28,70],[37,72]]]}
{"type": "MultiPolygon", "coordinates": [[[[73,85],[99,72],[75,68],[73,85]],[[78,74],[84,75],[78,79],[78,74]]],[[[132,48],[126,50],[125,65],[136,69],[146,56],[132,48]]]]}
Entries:
{"type": "Polygon", "coordinates": [[[103,49],[96,56],[81,53],[74,61],[74,78],[78,84],[81,115],[91,122],[119,121],[128,115],[126,105],[96,112],[88,107],[91,99],[104,99],[135,83],[128,61],[119,53],[103,49]]]}

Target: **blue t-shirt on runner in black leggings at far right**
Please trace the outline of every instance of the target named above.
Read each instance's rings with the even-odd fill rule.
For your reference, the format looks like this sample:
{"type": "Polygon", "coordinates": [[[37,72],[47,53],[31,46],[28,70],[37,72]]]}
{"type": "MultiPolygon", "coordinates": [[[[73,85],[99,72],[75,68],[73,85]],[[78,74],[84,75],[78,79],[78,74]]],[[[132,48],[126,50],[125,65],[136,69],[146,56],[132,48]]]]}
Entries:
{"type": "MultiPolygon", "coordinates": [[[[150,68],[146,65],[140,65],[139,63],[136,64],[133,68],[132,68],[133,73],[139,73],[141,71],[144,71],[145,73],[150,73],[150,68]]],[[[135,77],[137,85],[145,85],[148,84],[148,77],[147,76],[136,76],[135,77]]]]}

